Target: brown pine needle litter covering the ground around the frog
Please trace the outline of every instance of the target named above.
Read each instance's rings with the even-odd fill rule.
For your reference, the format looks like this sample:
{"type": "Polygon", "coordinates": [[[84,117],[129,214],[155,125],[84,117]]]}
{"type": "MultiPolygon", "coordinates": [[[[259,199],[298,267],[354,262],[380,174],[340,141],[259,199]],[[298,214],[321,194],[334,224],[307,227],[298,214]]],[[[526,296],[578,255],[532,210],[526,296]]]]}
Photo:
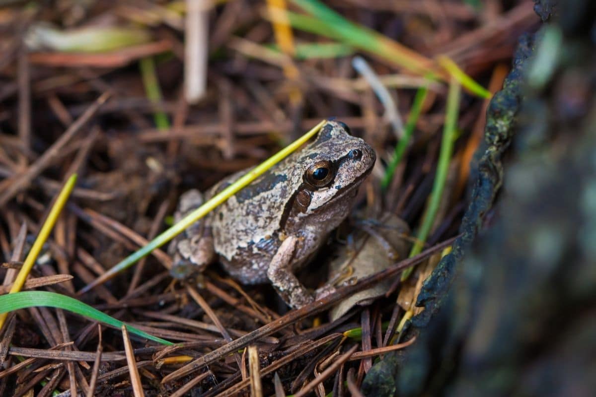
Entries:
{"type": "Polygon", "coordinates": [[[531,5],[88,3],[0,15],[0,395],[358,395],[375,364],[420,343],[406,333],[419,308],[397,299],[458,235],[477,120],[531,5]],[[218,264],[173,279],[167,242],[196,220],[173,223],[181,194],[287,154],[331,117],[377,154],[349,221],[298,274],[335,289],[289,310],[218,264]],[[412,230],[411,257],[328,274],[328,251],[357,255],[385,212],[412,230]]]}

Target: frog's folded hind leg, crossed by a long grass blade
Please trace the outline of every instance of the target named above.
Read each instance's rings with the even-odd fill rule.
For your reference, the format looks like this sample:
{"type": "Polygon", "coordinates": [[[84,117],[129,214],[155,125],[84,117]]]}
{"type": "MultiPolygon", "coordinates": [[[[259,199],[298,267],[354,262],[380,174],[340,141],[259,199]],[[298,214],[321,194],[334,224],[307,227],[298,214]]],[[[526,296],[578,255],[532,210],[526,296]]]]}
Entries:
{"type": "MultiPolygon", "coordinates": [[[[178,222],[203,204],[203,195],[198,190],[189,190],[180,198],[174,220],[178,222]]],[[[200,219],[172,240],[168,252],[173,256],[170,273],[176,279],[186,279],[191,274],[201,273],[215,260],[213,237],[208,219],[200,219]]]]}

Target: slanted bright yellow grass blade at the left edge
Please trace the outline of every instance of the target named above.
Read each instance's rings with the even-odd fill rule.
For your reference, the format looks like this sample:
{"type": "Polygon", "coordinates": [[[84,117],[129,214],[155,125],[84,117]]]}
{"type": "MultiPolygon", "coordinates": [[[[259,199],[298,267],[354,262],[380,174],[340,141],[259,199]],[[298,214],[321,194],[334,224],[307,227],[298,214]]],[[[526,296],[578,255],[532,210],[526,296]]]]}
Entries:
{"type": "MultiPolygon", "coordinates": [[[[16,279],[14,280],[13,286],[11,287],[9,294],[19,292],[23,285],[25,284],[25,280],[27,280],[27,276],[31,273],[31,269],[39,256],[39,252],[44,246],[45,241],[48,239],[49,233],[54,228],[54,224],[58,220],[58,215],[62,212],[62,208],[66,204],[66,201],[69,199],[70,192],[72,192],[73,188],[75,187],[77,174],[72,174],[70,178],[64,184],[64,187],[58,194],[52,209],[49,211],[48,218],[46,218],[44,225],[39,230],[39,234],[31,247],[29,254],[27,254],[27,258],[23,262],[23,266],[21,270],[18,272],[16,279]]],[[[0,310],[3,310],[4,307],[0,305],[0,310]]],[[[10,311],[10,310],[9,310],[10,311]]],[[[5,311],[3,314],[0,314],[0,329],[4,325],[4,321],[8,315],[8,311],[5,311]]]]}

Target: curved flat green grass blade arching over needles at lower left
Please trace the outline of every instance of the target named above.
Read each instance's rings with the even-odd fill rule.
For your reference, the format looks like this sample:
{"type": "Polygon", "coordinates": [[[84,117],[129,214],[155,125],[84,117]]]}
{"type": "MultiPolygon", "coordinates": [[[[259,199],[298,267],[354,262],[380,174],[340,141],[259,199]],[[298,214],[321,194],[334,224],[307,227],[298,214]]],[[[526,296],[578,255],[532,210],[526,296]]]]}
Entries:
{"type": "Polygon", "coordinates": [[[61,295],[60,293],[47,291],[25,291],[11,293],[8,295],[0,295],[0,311],[4,312],[4,314],[9,311],[28,307],[54,307],[72,311],[76,314],[82,315],[83,317],[100,321],[101,323],[107,324],[108,326],[114,327],[116,329],[126,326],[126,329],[128,329],[131,333],[153,340],[154,342],[161,343],[162,345],[173,345],[172,342],[160,337],[149,335],[146,332],[142,332],[141,330],[129,326],[120,320],[116,320],[116,318],[110,317],[109,315],[87,304],[84,304],[83,302],[77,301],[75,298],[70,298],[70,296],[61,295]]]}

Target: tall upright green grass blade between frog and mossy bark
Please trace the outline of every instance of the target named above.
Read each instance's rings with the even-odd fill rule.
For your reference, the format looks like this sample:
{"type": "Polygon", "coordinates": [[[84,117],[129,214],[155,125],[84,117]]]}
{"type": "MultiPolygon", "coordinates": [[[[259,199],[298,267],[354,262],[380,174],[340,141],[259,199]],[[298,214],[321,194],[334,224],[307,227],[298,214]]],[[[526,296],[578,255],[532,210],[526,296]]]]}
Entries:
{"type": "MultiPolygon", "coordinates": [[[[437,164],[437,173],[434,177],[433,190],[430,193],[430,199],[424,211],[424,217],[420,230],[414,246],[410,251],[409,257],[414,257],[420,254],[424,247],[427,237],[429,236],[430,229],[434,223],[434,217],[439,211],[439,204],[443,195],[443,189],[445,188],[445,182],[447,180],[447,173],[449,171],[449,162],[451,161],[451,155],[453,153],[453,146],[455,142],[455,132],[457,130],[457,120],[460,111],[460,99],[461,99],[461,85],[460,82],[455,78],[451,77],[451,83],[449,84],[449,93],[447,96],[447,111],[445,114],[445,126],[443,127],[443,139],[441,142],[441,151],[439,154],[439,163],[437,164]]],[[[406,280],[412,273],[412,268],[408,268],[402,273],[401,280],[406,280]]]]}

